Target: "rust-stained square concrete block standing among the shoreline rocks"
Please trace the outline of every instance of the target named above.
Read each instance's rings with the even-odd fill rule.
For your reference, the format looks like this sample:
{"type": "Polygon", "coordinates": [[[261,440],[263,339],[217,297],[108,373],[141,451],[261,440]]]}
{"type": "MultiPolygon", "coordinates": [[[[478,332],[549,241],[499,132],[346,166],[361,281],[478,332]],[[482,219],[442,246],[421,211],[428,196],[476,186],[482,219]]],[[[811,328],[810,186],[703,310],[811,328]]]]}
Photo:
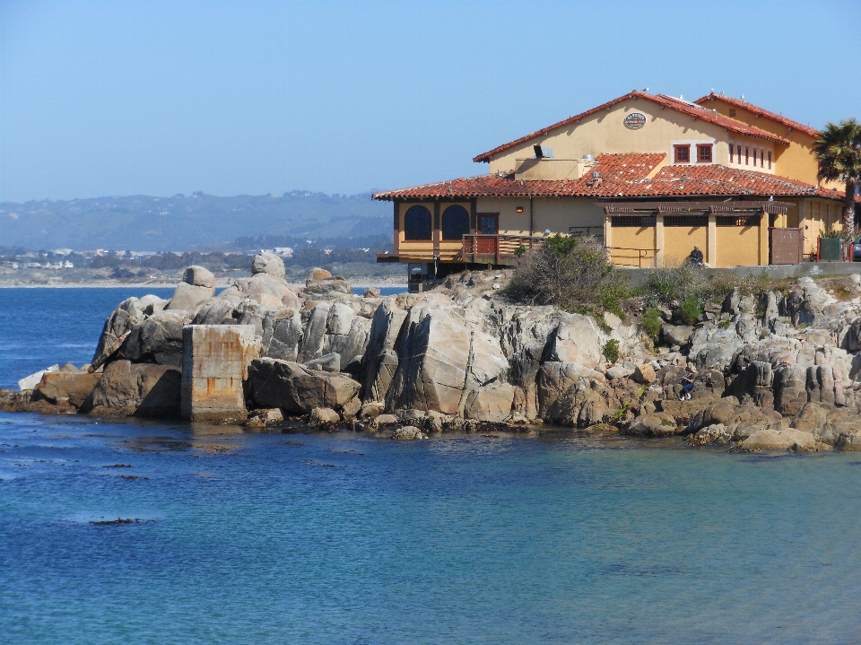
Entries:
{"type": "Polygon", "coordinates": [[[242,381],[260,344],[251,325],[189,325],[182,329],[182,398],[187,421],[241,420],[248,416],[242,381]]]}

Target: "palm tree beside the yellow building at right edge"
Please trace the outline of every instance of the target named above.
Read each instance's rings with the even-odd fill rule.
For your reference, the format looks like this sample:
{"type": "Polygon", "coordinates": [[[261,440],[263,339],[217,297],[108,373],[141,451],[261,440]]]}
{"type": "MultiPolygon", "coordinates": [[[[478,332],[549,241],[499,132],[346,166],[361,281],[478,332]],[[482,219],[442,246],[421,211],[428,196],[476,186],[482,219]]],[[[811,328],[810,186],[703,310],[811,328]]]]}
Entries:
{"type": "Polygon", "coordinates": [[[855,233],[855,188],[861,185],[861,124],[854,118],[828,123],[813,144],[819,161],[820,180],[841,181],[846,185],[843,199],[843,227],[855,233]]]}

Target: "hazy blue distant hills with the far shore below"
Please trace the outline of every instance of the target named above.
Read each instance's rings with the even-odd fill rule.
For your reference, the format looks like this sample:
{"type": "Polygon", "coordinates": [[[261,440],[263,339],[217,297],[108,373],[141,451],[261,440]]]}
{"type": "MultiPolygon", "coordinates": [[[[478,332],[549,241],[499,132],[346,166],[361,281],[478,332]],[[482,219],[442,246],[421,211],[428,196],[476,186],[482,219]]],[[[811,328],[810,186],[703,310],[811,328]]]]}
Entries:
{"type": "Polygon", "coordinates": [[[4,246],[137,251],[245,250],[257,240],[366,246],[392,235],[392,206],[370,193],[97,197],[0,204],[4,246]],[[357,238],[351,244],[349,238],[357,238]]]}

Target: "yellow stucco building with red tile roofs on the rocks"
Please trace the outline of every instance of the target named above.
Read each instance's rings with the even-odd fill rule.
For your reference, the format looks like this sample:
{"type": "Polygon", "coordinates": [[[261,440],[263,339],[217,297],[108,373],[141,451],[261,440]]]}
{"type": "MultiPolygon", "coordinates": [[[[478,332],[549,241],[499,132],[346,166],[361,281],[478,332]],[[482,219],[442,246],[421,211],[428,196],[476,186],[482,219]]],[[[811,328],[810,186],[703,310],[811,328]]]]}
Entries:
{"type": "Polygon", "coordinates": [[[624,266],[790,264],[841,226],[810,126],[709,94],[629,92],[479,154],[488,174],[374,195],[394,203],[394,252],[424,275],[509,265],[548,234],[595,235],[624,266]],[[422,268],[423,267],[423,268],[422,268]]]}

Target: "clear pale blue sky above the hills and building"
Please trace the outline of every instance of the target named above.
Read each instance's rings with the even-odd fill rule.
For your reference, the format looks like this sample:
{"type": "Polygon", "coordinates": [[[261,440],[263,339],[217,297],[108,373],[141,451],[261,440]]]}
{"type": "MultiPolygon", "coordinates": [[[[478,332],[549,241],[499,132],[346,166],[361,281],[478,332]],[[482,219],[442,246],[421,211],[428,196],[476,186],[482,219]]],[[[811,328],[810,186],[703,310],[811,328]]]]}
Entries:
{"type": "Polygon", "coordinates": [[[861,117],[861,2],[6,2],[0,201],[356,194],[624,92],[861,117]]]}

